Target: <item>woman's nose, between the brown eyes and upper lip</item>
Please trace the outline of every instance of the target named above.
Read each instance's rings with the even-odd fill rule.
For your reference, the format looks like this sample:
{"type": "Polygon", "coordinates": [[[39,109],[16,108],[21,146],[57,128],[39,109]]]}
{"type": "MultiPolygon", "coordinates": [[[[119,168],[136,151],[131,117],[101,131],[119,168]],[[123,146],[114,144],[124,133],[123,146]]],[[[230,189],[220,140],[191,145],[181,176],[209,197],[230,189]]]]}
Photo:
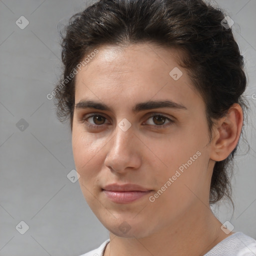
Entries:
{"type": "Polygon", "coordinates": [[[106,145],[105,166],[123,173],[137,169],[141,165],[142,148],[139,146],[141,142],[133,132],[132,125],[126,131],[116,125],[113,137],[106,145]]]}

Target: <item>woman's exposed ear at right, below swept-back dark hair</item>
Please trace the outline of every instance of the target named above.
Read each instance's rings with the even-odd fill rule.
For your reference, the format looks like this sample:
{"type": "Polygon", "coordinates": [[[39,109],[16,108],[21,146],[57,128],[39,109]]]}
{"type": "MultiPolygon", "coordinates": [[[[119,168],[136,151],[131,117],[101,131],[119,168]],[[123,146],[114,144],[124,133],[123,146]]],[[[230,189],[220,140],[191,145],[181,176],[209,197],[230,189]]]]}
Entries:
{"type": "Polygon", "coordinates": [[[217,120],[212,133],[210,159],[224,160],[238,143],[243,123],[242,108],[234,103],[225,116],[217,120]]]}

